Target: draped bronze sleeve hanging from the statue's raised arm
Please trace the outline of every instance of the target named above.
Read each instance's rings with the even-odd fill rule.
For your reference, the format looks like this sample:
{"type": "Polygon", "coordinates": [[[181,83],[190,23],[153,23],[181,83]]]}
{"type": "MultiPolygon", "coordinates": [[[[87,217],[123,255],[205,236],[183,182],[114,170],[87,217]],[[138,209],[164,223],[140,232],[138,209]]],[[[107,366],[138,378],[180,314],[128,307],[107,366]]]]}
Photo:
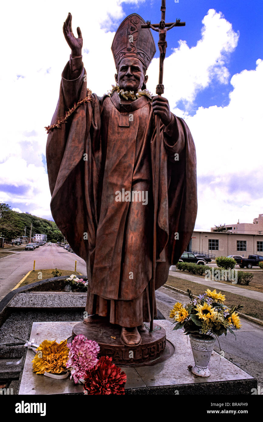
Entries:
{"type": "MultiPolygon", "coordinates": [[[[68,68],[69,63],[62,72],[52,124],[63,119],[68,108],[87,96],[84,68],[73,80],[67,79],[68,68]]],[[[93,192],[98,178],[96,168],[92,168],[92,139],[98,138],[99,110],[98,97],[93,95],[91,102],[79,106],[65,124],[49,133],[46,145],[52,216],[73,251],[83,259],[95,243],[93,192]]]]}

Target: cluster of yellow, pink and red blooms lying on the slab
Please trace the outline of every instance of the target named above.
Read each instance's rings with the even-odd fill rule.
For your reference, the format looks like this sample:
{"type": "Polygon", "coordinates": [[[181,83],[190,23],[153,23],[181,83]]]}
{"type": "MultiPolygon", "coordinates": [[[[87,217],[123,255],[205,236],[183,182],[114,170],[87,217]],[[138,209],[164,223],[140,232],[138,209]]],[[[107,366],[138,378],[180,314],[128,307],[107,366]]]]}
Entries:
{"type": "Polygon", "coordinates": [[[75,384],[84,384],[85,395],[125,394],[125,372],[112,363],[111,357],[98,359],[99,351],[98,343],[88,340],[83,334],[76,335],[68,344],[67,340],[59,344],[44,340],[36,349],[33,371],[45,375],[52,373],[52,378],[65,378],[70,373],[70,379],[73,378],[75,384]]]}

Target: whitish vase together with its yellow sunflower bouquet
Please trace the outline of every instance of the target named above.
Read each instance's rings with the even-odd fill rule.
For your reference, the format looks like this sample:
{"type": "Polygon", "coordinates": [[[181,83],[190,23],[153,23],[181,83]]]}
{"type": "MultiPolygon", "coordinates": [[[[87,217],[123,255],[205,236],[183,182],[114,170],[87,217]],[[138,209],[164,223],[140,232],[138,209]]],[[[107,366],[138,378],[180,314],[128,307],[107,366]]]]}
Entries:
{"type": "Polygon", "coordinates": [[[175,303],[170,311],[170,318],[174,319],[174,330],[184,329],[184,334],[190,337],[190,343],[195,360],[195,367],[192,372],[198,376],[209,376],[208,363],[214,349],[216,337],[229,331],[235,334],[233,330],[241,328],[238,316],[239,309],[243,305],[231,306],[224,305],[225,295],[207,289],[205,293],[197,298],[193,297],[191,290],[187,289],[190,303],[182,305],[175,303]]]}

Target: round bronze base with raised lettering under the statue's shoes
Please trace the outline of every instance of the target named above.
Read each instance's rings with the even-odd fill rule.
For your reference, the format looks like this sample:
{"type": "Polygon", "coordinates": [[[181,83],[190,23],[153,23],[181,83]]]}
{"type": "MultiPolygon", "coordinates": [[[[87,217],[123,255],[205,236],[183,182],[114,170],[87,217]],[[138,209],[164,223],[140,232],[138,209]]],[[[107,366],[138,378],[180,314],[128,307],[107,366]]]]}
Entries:
{"type": "Polygon", "coordinates": [[[92,324],[79,322],[73,327],[72,338],[83,334],[97,341],[100,346],[99,356],[112,357],[112,361],[121,366],[153,365],[163,362],[174,353],[174,346],[166,341],[165,329],[160,325],[155,324],[152,332],[147,328],[140,332],[139,346],[124,346],[120,341],[120,333],[119,325],[112,325],[106,320],[92,324]]]}

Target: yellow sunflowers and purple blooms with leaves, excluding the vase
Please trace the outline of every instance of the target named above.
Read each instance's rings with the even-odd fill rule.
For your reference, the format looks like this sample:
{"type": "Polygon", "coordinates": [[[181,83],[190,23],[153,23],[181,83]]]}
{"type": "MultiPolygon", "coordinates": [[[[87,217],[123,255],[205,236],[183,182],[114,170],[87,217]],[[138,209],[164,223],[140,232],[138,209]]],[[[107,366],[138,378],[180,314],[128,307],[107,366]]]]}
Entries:
{"type": "Polygon", "coordinates": [[[193,335],[222,335],[229,331],[235,334],[233,330],[241,328],[238,316],[239,309],[243,305],[232,306],[228,308],[223,304],[225,295],[207,289],[203,295],[194,298],[191,290],[187,289],[190,303],[182,305],[175,303],[170,311],[170,318],[174,318],[174,330],[184,328],[184,334],[193,335]]]}

